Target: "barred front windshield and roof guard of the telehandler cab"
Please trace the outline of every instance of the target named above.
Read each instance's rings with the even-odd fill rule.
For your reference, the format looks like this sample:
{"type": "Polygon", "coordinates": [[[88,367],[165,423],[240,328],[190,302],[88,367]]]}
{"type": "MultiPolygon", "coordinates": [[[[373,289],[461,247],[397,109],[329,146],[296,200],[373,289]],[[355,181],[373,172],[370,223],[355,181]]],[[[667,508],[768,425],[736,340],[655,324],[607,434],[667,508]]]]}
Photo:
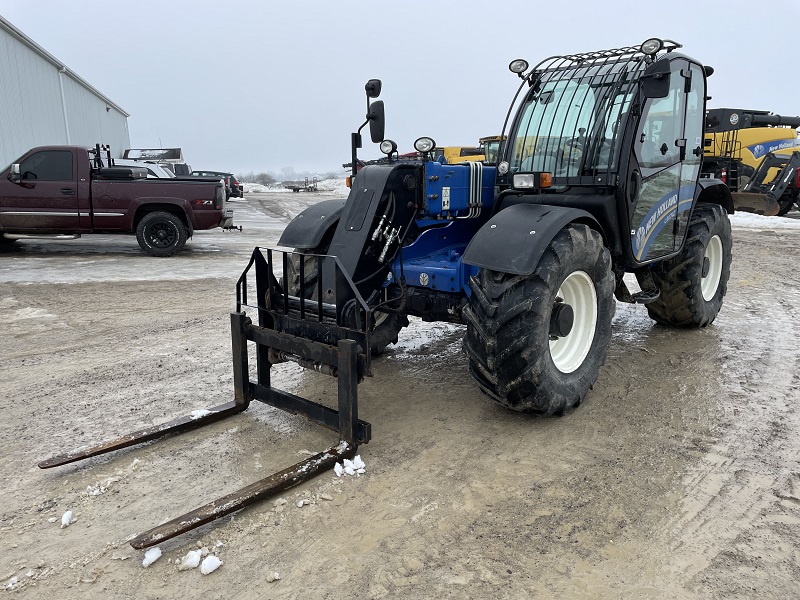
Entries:
{"type": "Polygon", "coordinates": [[[643,44],[553,56],[520,74],[504,136],[525,84],[530,89],[502,151],[510,171],[550,172],[554,186],[612,184],[638,81],[659,53],[680,48],[671,40],[652,41],[649,53],[643,44]]]}

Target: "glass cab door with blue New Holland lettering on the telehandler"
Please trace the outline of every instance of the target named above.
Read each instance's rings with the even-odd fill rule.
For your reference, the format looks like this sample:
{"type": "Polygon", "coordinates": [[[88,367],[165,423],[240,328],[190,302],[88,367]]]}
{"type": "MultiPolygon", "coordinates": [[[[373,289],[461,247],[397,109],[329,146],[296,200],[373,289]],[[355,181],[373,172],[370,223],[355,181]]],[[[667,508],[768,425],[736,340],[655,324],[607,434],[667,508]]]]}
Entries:
{"type": "MultiPolygon", "coordinates": [[[[699,131],[695,131],[696,120],[692,119],[687,134],[687,107],[690,96],[692,106],[697,106],[698,86],[705,89],[702,72],[698,77],[693,67],[686,59],[672,59],[666,95],[646,98],[643,103],[633,147],[641,184],[630,215],[631,250],[637,262],[672,254],[688,223],[697,180],[695,169],[699,172],[702,155],[702,117],[699,131]],[[700,152],[691,155],[695,162],[684,165],[690,146],[692,151],[700,147],[700,152]]],[[[699,106],[704,106],[702,94],[699,106]]]]}

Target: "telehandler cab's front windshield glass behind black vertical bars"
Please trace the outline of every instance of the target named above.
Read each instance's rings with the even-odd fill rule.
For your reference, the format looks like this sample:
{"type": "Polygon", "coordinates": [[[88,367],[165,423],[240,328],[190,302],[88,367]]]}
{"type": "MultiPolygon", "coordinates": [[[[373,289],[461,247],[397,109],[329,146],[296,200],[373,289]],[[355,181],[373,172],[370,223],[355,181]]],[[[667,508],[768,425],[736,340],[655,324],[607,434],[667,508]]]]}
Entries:
{"type": "Polygon", "coordinates": [[[636,87],[624,66],[544,73],[521,107],[511,136],[510,170],[572,177],[612,169],[636,87]]]}

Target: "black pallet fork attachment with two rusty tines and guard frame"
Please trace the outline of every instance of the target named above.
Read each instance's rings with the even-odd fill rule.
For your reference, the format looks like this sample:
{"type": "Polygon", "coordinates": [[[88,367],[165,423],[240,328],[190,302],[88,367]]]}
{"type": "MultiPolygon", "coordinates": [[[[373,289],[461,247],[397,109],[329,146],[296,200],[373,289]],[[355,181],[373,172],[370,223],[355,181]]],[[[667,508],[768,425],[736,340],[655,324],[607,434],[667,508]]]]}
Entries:
{"type": "MultiPolygon", "coordinates": [[[[306,257],[308,255],[305,255],[306,257]]],[[[258,501],[307,481],[335,463],[352,458],[359,444],[372,436],[372,426],[358,418],[358,383],[369,375],[372,311],[358,294],[341,263],[332,256],[316,256],[318,282],[322,269],[336,270],[336,303],[317,302],[316,290],[303,285],[304,260],[299,261],[296,296],[289,295],[291,253],[256,248],[236,286],[236,312],[231,313],[234,400],[167,423],[147,427],[115,440],[55,456],[39,463],[46,469],[105,454],[143,442],[182,433],[219,421],[245,410],[258,400],[282,410],[300,414],[323,427],[338,432],[335,445],[286,469],[273,473],[233,493],[158,525],[130,540],[134,548],[146,548],[191,531],[201,525],[241,510],[258,501]],[[276,277],[273,256],[281,254],[280,280],[276,277]],[[248,274],[255,271],[255,305],[248,301],[248,274]],[[242,312],[254,308],[258,325],[242,312]],[[256,379],[251,380],[248,343],[255,345],[256,379]],[[270,369],[276,362],[293,360],[299,365],[338,379],[337,409],[277,390],[271,386],[270,369]]],[[[252,283],[252,281],[250,281],[252,283]]]]}

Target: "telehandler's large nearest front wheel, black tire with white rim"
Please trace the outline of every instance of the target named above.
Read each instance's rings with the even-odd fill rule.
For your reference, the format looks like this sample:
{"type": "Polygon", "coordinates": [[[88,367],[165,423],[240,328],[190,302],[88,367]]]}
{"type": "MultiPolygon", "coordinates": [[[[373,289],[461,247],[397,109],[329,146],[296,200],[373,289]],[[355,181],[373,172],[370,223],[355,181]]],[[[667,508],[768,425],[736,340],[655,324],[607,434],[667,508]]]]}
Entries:
{"type": "Polygon", "coordinates": [[[464,350],[481,391],[547,415],[580,404],[605,362],[615,309],[600,234],[569,225],[531,275],[481,269],[470,287],[464,350]]]}

